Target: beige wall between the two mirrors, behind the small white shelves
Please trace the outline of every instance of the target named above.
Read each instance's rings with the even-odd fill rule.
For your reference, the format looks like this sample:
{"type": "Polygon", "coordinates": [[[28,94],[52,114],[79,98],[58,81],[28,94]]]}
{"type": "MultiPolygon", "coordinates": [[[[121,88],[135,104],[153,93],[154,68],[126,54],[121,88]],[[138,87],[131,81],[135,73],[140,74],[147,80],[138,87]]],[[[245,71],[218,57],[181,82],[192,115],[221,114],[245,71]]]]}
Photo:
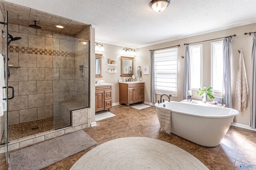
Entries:
{"type": "MultiPolygon", "coordinates": [[[[118,45],[110,45],[106,43],[101,43],[104,46],[103,52],[98,52],[103,54],[102,55],[102,78],[96,78],[96,80],[105,80],[106,83],[113,84],[112,86],[112,102],[118,103],[119,102],[119,84],[118,79],[122,79],[121,75],[121,53],[122,49],[125,47],[118,46],[118,45]],[[108,59],[114,60],[117,62],[117,66],[108,66],[108,59]],[[117,73],[108,73],[108,68],[116,68],[118,71],[117,73]]],[[[96,51],[97,53],[97,51],[96,51]]],[[[134,61],[135,63],[135,61],[134,61]]],[[[135,64],[134,64],[135,65],[135,64]]],[[[135,74],[135,73],[134,73],[135,74]]],[[[130,77],[126,77],[130,78],[130,77]]]]}

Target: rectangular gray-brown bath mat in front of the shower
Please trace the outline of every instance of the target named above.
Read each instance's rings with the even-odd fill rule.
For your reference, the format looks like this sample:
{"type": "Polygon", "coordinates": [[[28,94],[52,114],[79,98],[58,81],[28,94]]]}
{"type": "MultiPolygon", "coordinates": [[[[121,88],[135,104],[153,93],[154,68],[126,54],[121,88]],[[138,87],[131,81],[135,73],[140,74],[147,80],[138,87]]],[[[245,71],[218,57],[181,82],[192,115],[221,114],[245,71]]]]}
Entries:
{"type": "Polygon", "coordinates": [[[40,170],[96,144],[84,131],[76,131],[10,153],[8,170],[40,170]]]}

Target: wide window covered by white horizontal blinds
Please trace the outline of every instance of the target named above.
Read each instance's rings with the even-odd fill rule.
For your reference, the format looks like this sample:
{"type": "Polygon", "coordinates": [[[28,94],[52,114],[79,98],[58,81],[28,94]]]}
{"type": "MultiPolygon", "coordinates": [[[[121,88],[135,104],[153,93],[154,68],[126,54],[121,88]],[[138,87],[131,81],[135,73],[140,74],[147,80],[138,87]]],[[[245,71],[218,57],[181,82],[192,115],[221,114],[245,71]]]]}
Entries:
{"type": "Polygon", "coordinates": [[[178,48],[155,51],[155,90],[157,94],[177,96],[178,48]]]}

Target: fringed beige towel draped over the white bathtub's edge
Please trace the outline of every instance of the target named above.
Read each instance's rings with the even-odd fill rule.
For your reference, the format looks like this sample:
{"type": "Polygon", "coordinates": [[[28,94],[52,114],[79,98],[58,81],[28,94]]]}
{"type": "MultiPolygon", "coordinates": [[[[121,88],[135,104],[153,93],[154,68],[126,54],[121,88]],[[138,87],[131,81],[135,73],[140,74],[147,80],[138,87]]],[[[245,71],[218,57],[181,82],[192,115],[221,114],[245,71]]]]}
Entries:
{"type": "Polygon", "coordinates": [[[164,107],[160,109],[160,131],[171,134],[171,110],[164,107]]]}

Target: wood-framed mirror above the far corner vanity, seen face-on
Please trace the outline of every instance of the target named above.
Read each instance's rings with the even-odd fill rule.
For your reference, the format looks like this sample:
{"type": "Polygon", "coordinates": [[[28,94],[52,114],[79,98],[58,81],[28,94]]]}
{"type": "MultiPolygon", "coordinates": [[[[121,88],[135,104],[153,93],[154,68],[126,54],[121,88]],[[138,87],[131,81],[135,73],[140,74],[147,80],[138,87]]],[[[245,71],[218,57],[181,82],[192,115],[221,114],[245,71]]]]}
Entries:
{"type": "Polygon", "coordinates": [[[131,77],[133,75],[133,57],[121,56],[121,77],[131,77]]]}

